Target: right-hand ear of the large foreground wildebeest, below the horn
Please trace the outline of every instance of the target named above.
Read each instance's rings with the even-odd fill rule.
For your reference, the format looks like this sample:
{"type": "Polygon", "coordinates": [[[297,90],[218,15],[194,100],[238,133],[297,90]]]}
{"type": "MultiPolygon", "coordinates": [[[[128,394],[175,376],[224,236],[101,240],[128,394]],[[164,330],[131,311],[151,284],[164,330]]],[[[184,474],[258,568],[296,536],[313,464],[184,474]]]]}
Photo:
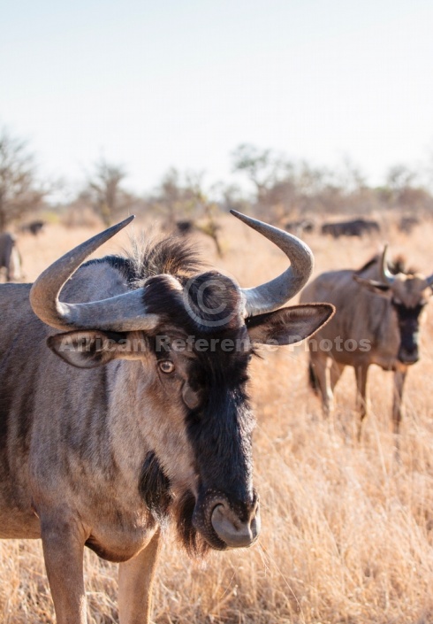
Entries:
{"type": "Polygon", "coordinates": [[[335,312],[330,304],[304,304],[247,319],[252,343],[293,344],[314,334],[335,312]]]}

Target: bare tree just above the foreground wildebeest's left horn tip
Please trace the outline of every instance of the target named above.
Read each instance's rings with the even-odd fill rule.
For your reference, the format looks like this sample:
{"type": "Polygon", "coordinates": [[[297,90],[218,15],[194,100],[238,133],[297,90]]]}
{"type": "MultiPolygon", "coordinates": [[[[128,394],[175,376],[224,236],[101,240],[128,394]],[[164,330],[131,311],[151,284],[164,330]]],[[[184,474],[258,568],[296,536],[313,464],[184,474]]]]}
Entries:
{"type": "Polygon", "coordinates": [[[87,182],[87,194],[95,212],[105,226],[131,204],[132,197],[122,189],[121,182],[126,173],[122,166],[108,163],[101,158],[95,164],[95,173],[87,182]]]}

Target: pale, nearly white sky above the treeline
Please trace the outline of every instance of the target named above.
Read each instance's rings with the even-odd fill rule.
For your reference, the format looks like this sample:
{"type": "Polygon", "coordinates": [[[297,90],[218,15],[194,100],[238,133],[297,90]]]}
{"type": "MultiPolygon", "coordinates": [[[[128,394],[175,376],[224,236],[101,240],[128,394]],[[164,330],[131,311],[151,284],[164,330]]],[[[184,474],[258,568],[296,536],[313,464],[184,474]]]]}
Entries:
{"type": "Polygon", "coordinates": [[[239,143],[379,180],[433,153],[431,0],[2,4],[0,125],[42,173],[102,154],[152,189],[169,166],[228,180],[239,143]]]}

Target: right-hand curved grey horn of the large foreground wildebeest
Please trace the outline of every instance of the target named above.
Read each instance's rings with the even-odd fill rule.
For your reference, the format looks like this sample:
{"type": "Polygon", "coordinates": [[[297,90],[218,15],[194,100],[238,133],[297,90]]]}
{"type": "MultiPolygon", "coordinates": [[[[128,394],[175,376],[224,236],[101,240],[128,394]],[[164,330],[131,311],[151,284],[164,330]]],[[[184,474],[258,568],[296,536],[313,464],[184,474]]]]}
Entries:
{"type": "Polygon", "coordinates": [[[252,289],[242,289],[246,297],[247,316],[273,312],[294,297],[307,283],[315,261],[313,252],[299,238],[278,229],[278,227],[262,223],[262,221],[252,219],[234,210],[230,212],[246,223],[247,226],[252,227],[256,232],[275,243],[280,250],[285,252],[291,262],[291,266],[274,280],[252,289]]]}

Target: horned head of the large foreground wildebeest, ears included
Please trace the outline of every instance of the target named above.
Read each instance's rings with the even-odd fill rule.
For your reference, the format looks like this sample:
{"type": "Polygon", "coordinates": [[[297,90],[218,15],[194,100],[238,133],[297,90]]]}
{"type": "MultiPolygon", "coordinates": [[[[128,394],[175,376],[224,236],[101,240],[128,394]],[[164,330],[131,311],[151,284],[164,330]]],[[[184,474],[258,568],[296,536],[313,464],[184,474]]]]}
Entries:
{"type": "Polygon", "coordinates": [[[130,218],[57,260],[35,281],[30,294],[41,320],[67,330],[48,342],[73,366],[95,367],[116,358],[141,360],[144,398],[153,404],[156,429],[161,423],[163,438],[164,423],[183,428],[187,448],[177,451],[178,458],[179,453],[189,453],[194,474],[183,490],[174,487],[179,459],[164,453],[160,439],[144,466],[143,479],[152,483],[142,486],[143,497],[156,517],[175,515],[190,551],[248,546],[260,530],[252,483],[254,418],[246,389],[254,345],[298,342],[333,312],[329,304],[280,309],[308,281],[312,253],[295,236],[234,214],[285,251],[291,260],[285,273],[252,289],[241,289],[215,271],[163,273],[109,299],[60,302],[65,281],[130,218]]]}

